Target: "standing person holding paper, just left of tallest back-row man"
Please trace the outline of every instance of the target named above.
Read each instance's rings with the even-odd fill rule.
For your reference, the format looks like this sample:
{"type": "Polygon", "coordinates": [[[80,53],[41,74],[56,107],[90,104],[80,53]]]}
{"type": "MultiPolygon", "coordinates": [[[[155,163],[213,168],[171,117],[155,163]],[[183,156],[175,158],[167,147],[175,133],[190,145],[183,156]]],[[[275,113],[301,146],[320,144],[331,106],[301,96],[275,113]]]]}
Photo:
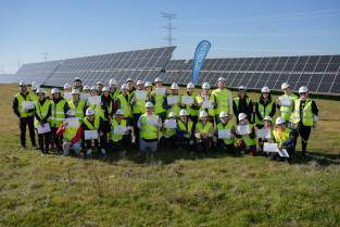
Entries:
{"type": "Polygon", "coordinates": [[[215,106],[215,96],[213,93],[210,92],[210,84],[209,83],[204,83],[202,85],[202,89],[203,89],[203,92],[199,93],[197,97],[196,97],[196,100],[194,100],[194,103],[192,105],[192,109],[194,110],[199,110],[199,112],[201,111],[205,111],[209,115],[209,122],[212,123],[214,125],[214,122],[215,122],[215,111],[214,109],[203,109],[202,105],[203,105],[203,102],[204,101],[209,101],[211,100],[212,101],[212,105],[215,106]]]}

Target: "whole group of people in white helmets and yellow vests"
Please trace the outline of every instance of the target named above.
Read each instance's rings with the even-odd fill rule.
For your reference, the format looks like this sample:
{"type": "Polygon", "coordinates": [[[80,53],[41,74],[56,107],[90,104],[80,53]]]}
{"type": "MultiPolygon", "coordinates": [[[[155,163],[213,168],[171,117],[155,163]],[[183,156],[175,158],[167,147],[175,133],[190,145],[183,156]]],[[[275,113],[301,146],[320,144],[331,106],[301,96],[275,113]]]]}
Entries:
{"type": "Polygon", "coordinates": [[[301,87],[298,97],[288,83],[281,85],[284,96],[277,99],[272,98],[268,87],[264,87],[255,102],[255,111],[247,88],[239,87],[238,97],[232,100],[223,77],[218,78],[216,89],[211,90],[210,84],[204,83],[199,93],[192,83],[182,94],[179,94],[177,84],[172,84],[171,93],[161,78],[154,84],[153,88],[152,83],[138,80],[135,88],[135,81],[128,78],[118,90],[115,79],[109,81],[109,87],[101,81],[89,87],[83,86],[81,79],[76,77],[74,86],[64,86],[64,93],[53,88],[49,98],[36,83],[33,83],[30,93],[27,84],[21,81],[13,111],[20,118],[22,149],[26,149],[28,125],[32,147],[39,149],[41,155],[49,153],[52,141],[55,152],[62,156],[68,155],[72,147],[76,154],[89,155],[93,149],[105,154],[119,149],[129,151],[135,144],[141,152],[147,149],[155,152],[158,148],[186,148],[199,152],[215,149],[229,153],[238,150],[242,154],[263,153],[272,161],[291,163],[299,136],[302,156],[306,155],[312,128],[318,121],[318,110],[308,98],[308,89],[301,87]],[[100,97],[100,102],[91,103],[88,97],[96,96],[100,97]],[[34,101],[34,108],[24,109],[25,101],[34,101]],[[279,116],[275,119],[277,109],[279,116]],[[71,124],[75,119],[67,118],[77,118],[78,124],[71,124]],[[39,147],[34,128],[38,133],[39,147]],[[259,138],[256,142],[256,128],[269,129],[270,137],[259,138]],[[266,142],[277,143],[278,151],[285,149],[289,155],[281,157],[279,152],[266,152],[266,142]]]}

